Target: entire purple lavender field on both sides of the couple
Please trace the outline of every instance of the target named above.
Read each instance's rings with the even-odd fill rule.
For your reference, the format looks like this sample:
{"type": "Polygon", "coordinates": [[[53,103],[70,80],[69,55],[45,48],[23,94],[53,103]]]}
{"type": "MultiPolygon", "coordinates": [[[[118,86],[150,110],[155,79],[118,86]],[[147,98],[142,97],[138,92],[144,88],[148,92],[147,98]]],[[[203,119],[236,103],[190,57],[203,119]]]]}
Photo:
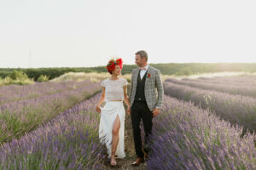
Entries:
{"type": "MultiPolygon", "coordinates": [[[[245,87],[246,79],[209,79],[166,79],[147,169],[256,169],[256,99],[179,83],[245,87]]],[[[88,80],[0,87],[0,170],[109,169],[95,111],[101,90],[88,80]]]]}

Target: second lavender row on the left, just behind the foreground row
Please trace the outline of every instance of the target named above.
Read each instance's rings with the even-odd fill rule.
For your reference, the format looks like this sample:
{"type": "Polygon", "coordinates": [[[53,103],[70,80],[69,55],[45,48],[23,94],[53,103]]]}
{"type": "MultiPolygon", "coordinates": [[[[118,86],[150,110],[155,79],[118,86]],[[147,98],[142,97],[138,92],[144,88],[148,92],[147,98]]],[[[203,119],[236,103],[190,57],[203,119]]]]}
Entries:
{"type": "MultiPolygon", "coordinates": [[[[57,87],[59,84],[54,83],[52,86],[57,87]]],[[[68,89],[67,86],[62,86],[61,93],[1,105],[0,144],[10,139],[19,138],[24,133],[55,117],[61,111],[66,111],[100,90],[100,82],[84,81],[80,82],[79,88],[73,90],[68,89]]]]}

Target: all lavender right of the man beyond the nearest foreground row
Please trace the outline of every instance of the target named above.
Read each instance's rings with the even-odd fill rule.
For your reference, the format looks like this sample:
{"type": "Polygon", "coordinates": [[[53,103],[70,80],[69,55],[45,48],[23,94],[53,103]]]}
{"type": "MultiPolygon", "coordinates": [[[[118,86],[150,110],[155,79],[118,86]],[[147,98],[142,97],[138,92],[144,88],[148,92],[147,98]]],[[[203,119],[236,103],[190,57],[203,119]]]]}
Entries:
{"type": "Polygon", "coordinates": [[[256,130],[256,99],[247,94],[256,92],[255,86],[250,83],[256,80],[253,76],[246,77],[212,77],[195,80],[166,79],[164,82],[165,94],[192,101],[195,105],[200,105],[203,109],[209,109],[216,115],[232,124],[243,127],[243,131],[255,132],[256,130]],[[206,80],[206,81],[204,81],[206,80]],[[227,82],[225,85],[214,85],[211,81],[227,82]],[[209,83],[210,82],[210,83],[209,83]],[[241,82],[242,85],[233,85],[233,82],[241,82]],[[212,83],[212,84],[211,84],[212,83]],[[246,87],[246,84],[247,85],[246,87]],[[209,87],[212,88],[209,88],[209,87]],[[245,88],[246,87],[246,88],[245,88]],[[225,90],[229,89],[229,90],[225,90]],[[235,94],[230,91],[234,90],[235,94]]]}

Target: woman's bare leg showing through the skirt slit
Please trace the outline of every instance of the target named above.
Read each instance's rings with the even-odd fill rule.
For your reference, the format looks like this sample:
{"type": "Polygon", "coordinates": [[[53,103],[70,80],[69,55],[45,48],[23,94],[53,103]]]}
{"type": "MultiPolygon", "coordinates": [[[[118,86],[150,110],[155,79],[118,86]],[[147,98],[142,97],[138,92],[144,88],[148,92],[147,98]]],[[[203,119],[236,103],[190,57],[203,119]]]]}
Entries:
{"type": "Polygon", "coordinates": [[[117,115],[113,122],[111,156],[115,156],[115,151],[119,143],[119,129],[120,129],[120,119],[119,119],[119,115],[117,115]]]}

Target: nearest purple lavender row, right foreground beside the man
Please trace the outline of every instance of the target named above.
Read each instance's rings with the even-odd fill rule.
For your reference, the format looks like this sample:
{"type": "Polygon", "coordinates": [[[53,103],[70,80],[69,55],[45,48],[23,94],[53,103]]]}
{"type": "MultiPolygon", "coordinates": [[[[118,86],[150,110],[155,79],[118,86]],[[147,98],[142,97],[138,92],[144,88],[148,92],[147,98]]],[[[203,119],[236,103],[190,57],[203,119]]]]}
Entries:
{"type": "Polygon", "coordinates": [[[148,169],[256,169],[255,135],[192,103],[165,96],[152,134],[148,169]]]}

